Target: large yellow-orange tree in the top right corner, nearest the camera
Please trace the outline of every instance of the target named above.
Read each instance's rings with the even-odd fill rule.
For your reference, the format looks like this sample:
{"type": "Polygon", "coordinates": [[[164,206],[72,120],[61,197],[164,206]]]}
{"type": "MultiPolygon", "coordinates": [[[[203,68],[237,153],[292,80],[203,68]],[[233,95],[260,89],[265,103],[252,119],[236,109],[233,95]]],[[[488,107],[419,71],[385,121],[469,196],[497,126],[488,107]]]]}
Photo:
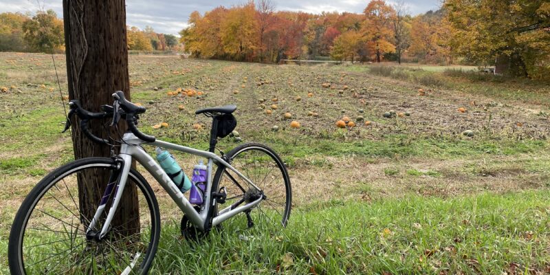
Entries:
{"type": "Polygon", "coordinates": [[[550,78],[548,1],[446,0],[443,7],[457,54],[485,64],[506,58],[511,75],[550,78]]]}

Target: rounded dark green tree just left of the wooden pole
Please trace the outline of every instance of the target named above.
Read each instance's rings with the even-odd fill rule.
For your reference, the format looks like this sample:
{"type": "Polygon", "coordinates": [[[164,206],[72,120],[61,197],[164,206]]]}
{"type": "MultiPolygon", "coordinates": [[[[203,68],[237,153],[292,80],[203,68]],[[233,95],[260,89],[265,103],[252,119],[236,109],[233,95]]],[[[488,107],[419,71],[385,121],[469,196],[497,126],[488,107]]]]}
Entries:
{"type": "Polygon", "coordinates": [[[53,10],[36,12],[23,22],[22,29],[23,39],[37,52],[63,49],[63,21],[53,10]]]}

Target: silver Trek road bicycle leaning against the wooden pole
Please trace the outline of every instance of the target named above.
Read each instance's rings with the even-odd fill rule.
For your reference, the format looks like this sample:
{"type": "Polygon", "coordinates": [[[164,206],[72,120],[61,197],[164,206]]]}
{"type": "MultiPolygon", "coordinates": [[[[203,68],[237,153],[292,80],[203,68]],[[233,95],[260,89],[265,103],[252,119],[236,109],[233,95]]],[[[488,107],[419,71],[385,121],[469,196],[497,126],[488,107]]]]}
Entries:
{"type": "Polygon", "coordinates": [[[159,243],[159,205],[151,186],[132,167],[133,159],[184,212],[181,234],[187,238],[204,236],[230,221],[245,228],[254,222],[287,225],[292,207],[290,179],[283,161],[271,148],[250,143],[221,156],[214,153],[218,137],[228,135],[236,125],[232,115],[235,105],[195,112],[212,118],[210,147],[201,151],[142,133],[136,124],[146,109],[126,100],[122,91],[115,92],[113,98],[113,105],[103,105],[100,113],[83,109],[77,100],[69,102],[65,131],[74,114],[80,118],[82,133],[98,144],[111,144],[113,139],[91,133],[90,120],[112,118],[111,126],[116,126],[124,119],[129,131],[119,140],[120,153],[113,153],[115,145],[111,144],[110,158],[69,162],[31,190],[10,232],[8,262],[12,274],[147,274],[159,243]],[[193,206],[143,145],[206,158],[204,203],[193,206]],[[214,165],[217,169],[212,173],[214,165]],[[120,204],[131,198],[131,206],[120,204]],[[225,203],[226,207],[221,207],[225,203]],[[241,224],[243,216],[245,224],[241,224]],[[115,217],[126,219],[122,222],[115,217]]]}

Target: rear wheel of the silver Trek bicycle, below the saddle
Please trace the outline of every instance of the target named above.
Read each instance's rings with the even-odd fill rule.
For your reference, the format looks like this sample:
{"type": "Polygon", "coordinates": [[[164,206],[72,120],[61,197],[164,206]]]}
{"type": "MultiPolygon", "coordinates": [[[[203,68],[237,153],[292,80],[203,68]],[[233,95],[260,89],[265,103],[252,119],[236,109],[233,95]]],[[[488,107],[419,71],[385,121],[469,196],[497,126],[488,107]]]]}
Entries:
{"type": "Polygon", "coordinates": [[[287,225],[292,208],[292,188],[285,164],[271,148],[263,144],[242,144],[230,151],[225,157],[242,175],[258,186],[256,190],[232,170],[220,166],[212,184],[213,191],[225,187],[225,203],[216,203],[214,216],[227,208],[235,208],[254,201],[259,196],[263,201],[248,212],[241,212],[223,222],[224,229],[230,231],[254,227],[269,230],[287,225]],[[252,221],[252,224],[250,223],[252,221]],[[267,228],[266,228],[267,226],[267,228]]]}

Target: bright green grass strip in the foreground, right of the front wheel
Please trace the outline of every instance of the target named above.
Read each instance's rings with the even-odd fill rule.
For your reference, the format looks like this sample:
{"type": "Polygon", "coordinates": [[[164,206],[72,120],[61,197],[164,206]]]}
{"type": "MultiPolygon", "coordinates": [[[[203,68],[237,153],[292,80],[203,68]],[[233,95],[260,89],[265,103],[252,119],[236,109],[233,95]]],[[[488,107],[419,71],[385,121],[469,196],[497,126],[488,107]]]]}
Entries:
{"type": "Polygon", "coordinates": [[[164,225],[151,274],[547,272],[549,195],[335,199],[295,209],[282,232],[225,228],[199,244],[181,241],[174,221],[164,225]]]}

